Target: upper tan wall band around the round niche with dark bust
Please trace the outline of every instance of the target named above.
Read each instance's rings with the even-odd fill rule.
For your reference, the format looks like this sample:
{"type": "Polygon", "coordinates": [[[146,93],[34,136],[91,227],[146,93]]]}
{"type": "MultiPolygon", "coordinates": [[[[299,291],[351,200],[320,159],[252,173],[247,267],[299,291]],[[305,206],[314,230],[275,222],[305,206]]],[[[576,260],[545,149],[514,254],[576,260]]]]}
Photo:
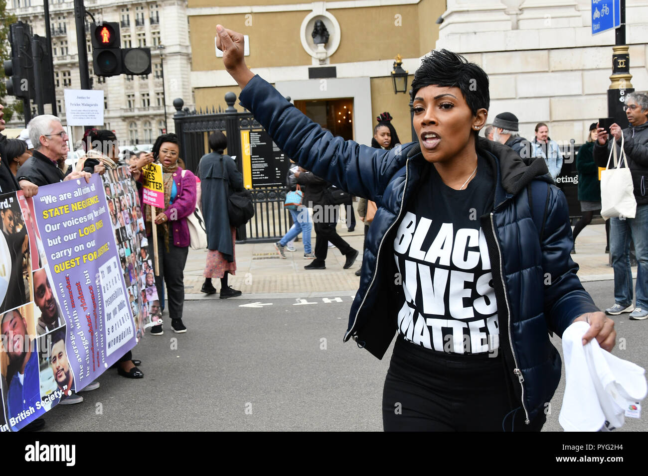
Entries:
{"type": "MultiPolygon", "coordinates": [[[[421,56],[421,19],[417,5],[343,8],[330,12],[338,19],[341,30],[340,47],[330,57],[331,64],[389,60],[397,54],[403,58],[421,56]]],[[[223,69],[214,50],[218,23],[249,36],[250,54],[246,63],[251,68],[311,65],[311,56],[299,39],[299,28],[307,14],[255,13],[249,19],[244,14],[191,16],[192,71],[223,69]]],[[[434,21],[430,23],[434,25],[434,21]]],[[[426,28],[431,27],[426,25],[426,28]]],[[[438,28],[435,31],[438,35],[438,28]]],[[[430,34],[426,30],[426,38],[430,34]]]]}

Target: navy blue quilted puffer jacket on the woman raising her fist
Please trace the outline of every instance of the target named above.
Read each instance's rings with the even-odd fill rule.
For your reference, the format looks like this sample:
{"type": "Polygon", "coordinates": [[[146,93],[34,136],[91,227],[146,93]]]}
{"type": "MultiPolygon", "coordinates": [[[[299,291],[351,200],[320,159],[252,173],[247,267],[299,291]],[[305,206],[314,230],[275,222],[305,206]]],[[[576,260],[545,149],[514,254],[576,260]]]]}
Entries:
{"type": "MultiPolygon", "coordinates": [[[[393,232],[430,164],[417,143],[381,150],[333,137],[259,76],[243,89],[240,102],[301,166],[378,205],[344,340],[353,337],[382,358],[397,331],[395,306],[403,292],[395,280],[393,232]]],[[[478,148],[496,177],[494,208],[480,220],[491,259],[500,349],[528,423],[551,400],[561,377],[561,359],[548,333],[562,336],[576,317],[598,308],[570,257],[572,229],[561,190],[548,186],[542,242],[531,218],[526,186],[533,179],[551,181],[544,161],[526,166],[513,150],[486,139],[478,148]]]]}

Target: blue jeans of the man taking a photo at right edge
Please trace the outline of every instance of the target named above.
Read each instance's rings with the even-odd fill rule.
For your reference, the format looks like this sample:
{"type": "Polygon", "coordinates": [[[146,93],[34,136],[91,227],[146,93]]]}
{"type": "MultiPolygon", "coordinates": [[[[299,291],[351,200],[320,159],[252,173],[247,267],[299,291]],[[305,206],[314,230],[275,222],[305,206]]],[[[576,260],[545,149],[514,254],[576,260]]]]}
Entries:
{"type": "Polygon", "coordinates": [[[614,268],[614,302],[632,304],[630,240],[637,256],[636,307],[648,309],[648,205],[638,205],[635,218],[610,218],[610,255],[614,268]]]}

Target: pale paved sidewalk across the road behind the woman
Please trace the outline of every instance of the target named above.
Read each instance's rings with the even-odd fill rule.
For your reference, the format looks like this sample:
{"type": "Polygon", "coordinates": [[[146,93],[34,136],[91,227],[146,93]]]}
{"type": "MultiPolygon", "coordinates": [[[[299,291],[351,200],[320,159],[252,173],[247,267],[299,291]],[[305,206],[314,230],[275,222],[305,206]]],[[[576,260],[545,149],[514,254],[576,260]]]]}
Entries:
{"type": "MultiPolygon", "coordinates": [[[[337,248],[329,249],[326,269],[307,271],[304,266],[310,260],[303,259],[303,243],[295,243],[297,251],[286,251],[286,259],[279,258],[272,243],[238,244],[236,246],[237,274],[229,277],[229,284],[243,291],[242,298],[260,299],[272,297],[321,297],[332,293],[354,295],[360,278],[354,275],[360,267],[362,243],[364,240],[362,221],[354,232],[347,232],[344,223],[338,223],[338,233],[351,246],[360,251],[355,264],[343,269],[345,258],[337,248]],[[275,296],[276,295],[276,296],[275,296]]],[[[301,236],[300,236],[301,238],[301,236]]],[[[312,244],[315,245],[313,232],[312,244]]],[[[581,281],[601,281],[614,278],[608,266],[605,251],[605,225],[588,225],[583,229],[576,242],[576,255],[573,260],[580,266],[581,281]]],[[[186,299],[218,299],[218,294],[207,296],[200,292],[203,283],[203,269],[207,256],[206,250],[189,250],[185,266],[186,299]]],[[[636,277],[636,267],[632,268],[636,277]]],[[[220,282],[214,282],[220,291],[220,282]]]]}

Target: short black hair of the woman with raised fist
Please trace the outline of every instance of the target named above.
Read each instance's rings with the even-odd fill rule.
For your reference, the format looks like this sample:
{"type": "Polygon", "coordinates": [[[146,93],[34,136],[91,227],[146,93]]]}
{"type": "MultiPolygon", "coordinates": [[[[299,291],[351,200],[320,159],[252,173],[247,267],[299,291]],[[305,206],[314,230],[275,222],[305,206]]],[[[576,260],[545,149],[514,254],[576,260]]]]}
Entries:
{"type": "MultiPolygon", "coordinates": [[[[429,85],[458,87],[473,115],[479,109],[489,109],[488,74],[461,54],[446,49],[432,50],[421,60],[411,82],[411,99],[422,87],[429,85]]],[[[479,131],[478,131],[479,132],[479,131]]]]}

